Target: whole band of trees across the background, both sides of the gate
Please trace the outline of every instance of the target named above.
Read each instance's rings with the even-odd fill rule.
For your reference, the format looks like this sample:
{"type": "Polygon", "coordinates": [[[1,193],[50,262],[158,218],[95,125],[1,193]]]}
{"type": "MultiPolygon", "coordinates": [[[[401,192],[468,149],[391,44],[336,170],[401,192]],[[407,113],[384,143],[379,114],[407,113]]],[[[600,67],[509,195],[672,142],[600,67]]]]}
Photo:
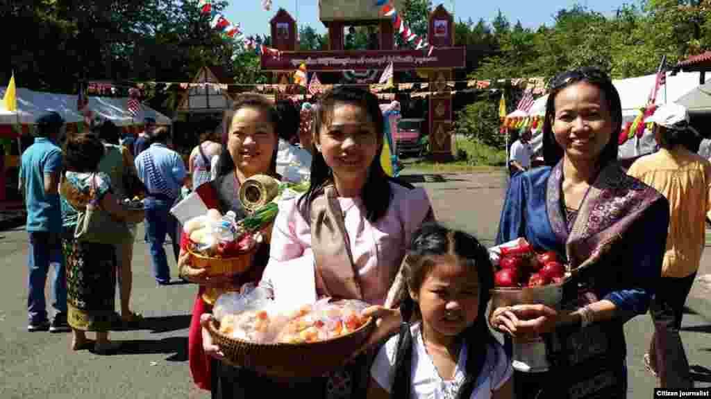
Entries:
{"type": "MultiPolygon", "coordinates": [[[[213,1],[218,11],[226,4],[213,1]]],[[[426,35],[432,1],[404,4],[402,19],[426,35]]],[[[23,87],[75,92],[77,80],[185,82],[203,65],[220,65],[237,82],[267,81],[255,51],[216,33],[195,1],[9,0],[0,18],[12,21],[0,26],[11,54],[0,68],[1,82],[14,71],[23,87]]],[[[711,0],[638,0],[611,15],[576,5],[557,11],[550,26],[524,26],[501,11],[491,22],[456,22],[456,45],[467,52],[466,70],[458,76],[551,77],[581,65],[602,67],[615,78],[648,74],[663,55],[673,65],[711,48],[711,0]]],[[[353,48],[368,48],[371,33],[356,28],[353,48]]],[[[301,50],[328,43],[310,26],[301,26],[299,36],[301,50]]],[[[257,37],[257,43],[269,38],[257,37]]]]}

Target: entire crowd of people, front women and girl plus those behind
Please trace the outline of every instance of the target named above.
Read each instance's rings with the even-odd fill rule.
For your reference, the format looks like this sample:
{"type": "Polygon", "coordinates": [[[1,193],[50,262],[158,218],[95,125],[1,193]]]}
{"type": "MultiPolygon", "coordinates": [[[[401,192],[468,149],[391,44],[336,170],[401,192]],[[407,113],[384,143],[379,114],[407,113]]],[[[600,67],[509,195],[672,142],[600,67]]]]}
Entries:
{"type": "MultiPolygon", "coordinates": [[[[112,244],[77,239],[87,229],[82,217],[100,207],[117,224],[145,220],[159,285],[171,280],[163,249],[171,236],[179,277],[199,287],[188,337],[191,375],[213,398],[287,392],[309,398],[625,398],[623,327],[650,309],[655,335],[642,361],[659,386],[693,386],[679,329],[711,209],[711,163],[680,144],[689,121],[684,109],[658,109],[648,121],[660,151],[625,170],[617,163],[622,114],[610,78],[586,67],[551,81],[545,166],[512,158],[515,173],[496,242],[525,238],[579,272],[563,285],[560,308],[489,312],[494,266],[487,248],[439,224],[427,192],[389,177],[380,165],[385,128],[377,97],[336,87],[303,111],[313,115],[307,129],[293,104],[242,95],[221,123],[203,126],[187,168],[169,148],[168,129],[146,125],[129,151],[112,143],[116,129],[105,122],[60,148],[60,117],[40,119],[21,170],[30,235],[28,329],[70,328],[73,349],[85,346],[85,332],[92,331],[97,353],[114,350],[107,334],[117,278],[120,318],[140,319],[130,307],[126,275],[135,229],[117,229],[112,244]],[[120,204],[122,174],[137,175],[144,185],[145,209],[120,204]],[[188,239],[179,236],[169,209],[193,190],[208,208],[243,217],[237,193],[254,175],[308,177],[309,190],[279,203],[271,238],[246,273],[210,276],[194,267],[188,239]],[[58,270],[52,322],[43,292],[50,264],[58,270]],[[293,287],[293,275],[313,278],[313,285],[293,287]],[[202,294],[246,283],[268,287],[277,300],[286,290],[314,289],[309,286],[316,296],[363,300],[371,305],[363,314],[377,327],[362,351],[321,378],[275,378],[233,366],[208,333],[212,306],[202,294]],[[490,327],[503,333],[503,343],[490,327]],[[543,337],[550,350],[545,373],[512,367],[512,340],[531,335],[543,337]]],[[[525,153],[529,138],[521,137],[517,154],[525,153]]]]}

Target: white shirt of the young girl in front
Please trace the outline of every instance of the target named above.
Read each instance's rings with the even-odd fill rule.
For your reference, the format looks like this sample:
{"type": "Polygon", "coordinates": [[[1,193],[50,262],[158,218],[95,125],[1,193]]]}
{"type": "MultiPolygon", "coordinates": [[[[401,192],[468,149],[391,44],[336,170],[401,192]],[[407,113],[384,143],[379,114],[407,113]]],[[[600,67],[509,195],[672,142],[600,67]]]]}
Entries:
{"type": "MultiPolygon", "coordinates": [[[[456,393],[456,388],[464,383],[466,378],[466,353],[469,348],[462,345],[459,351],[459,359],[456,362],[454,379],[444,381],[439,376],[437,368],[432,362],[432,358],[427,354],[422,341],[421,324],[415,323],[410,327],[412,332],[412,370],[410,378],[410,398],[411,399],[445,399],[456,397],[451,393],[456,393]]],[[[395,354],[397,352],[397,335],[391,337],[380,348],[375,356],[373,367],[370,368],[370,375],[378,384],[387,390],[392,390],[392,383],[395,380],[395,354]]],[[[513,375],[511,361],[501,344],[486,345],[486,361],[481,369],[481,373],[476,378],[474,391],[471,399],[489,399],[491,393],[503,386],[513,375]]]]}

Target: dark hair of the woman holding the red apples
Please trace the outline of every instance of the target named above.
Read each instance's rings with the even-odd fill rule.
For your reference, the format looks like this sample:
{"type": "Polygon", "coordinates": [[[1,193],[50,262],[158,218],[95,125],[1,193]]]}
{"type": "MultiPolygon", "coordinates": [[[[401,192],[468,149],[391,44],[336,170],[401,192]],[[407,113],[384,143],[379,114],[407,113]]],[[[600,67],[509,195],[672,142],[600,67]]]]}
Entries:
{"type": "Polygon", "coordinates": [[[550,94],[545,102],[545,119],[543,120],[543,160],[546,165],[555,166],[563,158],[563,148],[560,148],[553,134],[553,121],[555,120],[555,97],[563,89],[579,82],[586,82],[596,86],[604,94],[610,115],[612,117],[612,134],[610,141],[602,149],[599,165],[607,165],[617,160],[619,144],[617,138],[622,131],[622,103],[620,94],[612,84],[612,80],[602,70],[595,67],[582,67],[576,70],[563,72],[550,81],[550,94]]]}

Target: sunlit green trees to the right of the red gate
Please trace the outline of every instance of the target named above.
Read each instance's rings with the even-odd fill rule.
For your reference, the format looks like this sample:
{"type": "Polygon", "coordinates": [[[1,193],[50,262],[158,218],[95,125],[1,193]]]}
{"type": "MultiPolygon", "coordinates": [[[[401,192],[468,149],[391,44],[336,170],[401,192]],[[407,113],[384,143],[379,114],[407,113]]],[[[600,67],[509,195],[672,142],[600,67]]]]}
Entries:
{"type": "MultiPolygon", "coordinates": [[[[472,24],[466,26],[471,32],[472,24]]],[[[457,44],[462,45],[459,38],[468,36],[461,22],[458,29],[457,44]]],[[[552,77],[584,65],[600,67],[614,78],[632,77],[655,72],[663,55],[675,65],[710,49],[711,1],[643,0],[623,4],[611,16],[575,5],[557,11],[552,26],[538,29],[520,23],[512,27],[499,12],[488,32],[466,42],[486,44],[492,51],[469,77],[552,77]]]]}

